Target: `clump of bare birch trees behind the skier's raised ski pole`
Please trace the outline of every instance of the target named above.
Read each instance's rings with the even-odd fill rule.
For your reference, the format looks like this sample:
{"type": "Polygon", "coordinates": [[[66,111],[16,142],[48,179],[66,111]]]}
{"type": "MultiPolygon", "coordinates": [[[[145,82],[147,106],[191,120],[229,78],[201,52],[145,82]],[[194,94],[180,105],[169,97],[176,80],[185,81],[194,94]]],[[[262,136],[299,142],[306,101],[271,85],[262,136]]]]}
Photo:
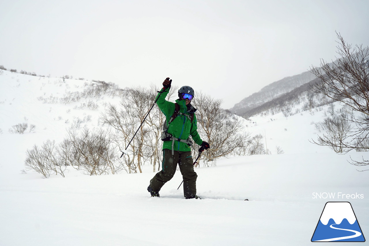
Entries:
{"type": "MultiPolygon", "coordinates": [[[[119,108],[109,104],[105,113],[101,115],[100,121],[116,130],[113,138],[121,148],[127,146],[135,132],[138,131],[128,148],[130,154],[123,155],[129,173],[135,173],[137,170],[142,172],[141,166],[145,161],[152,163],[153,171],[155,171],[156,163],[159,163],[162,156],[160,136],[165,116],[156,105],[150,112],[149,110],[155,102],[158,88],[151,86],[151,90],[148,90],[135,87],[127,91],[119,108]],[[139,127],[146,115],[148,117],[139,127]]],[[[168,100],[171,99],[174,91],[176,88],[171,89],[168,100]]]]}

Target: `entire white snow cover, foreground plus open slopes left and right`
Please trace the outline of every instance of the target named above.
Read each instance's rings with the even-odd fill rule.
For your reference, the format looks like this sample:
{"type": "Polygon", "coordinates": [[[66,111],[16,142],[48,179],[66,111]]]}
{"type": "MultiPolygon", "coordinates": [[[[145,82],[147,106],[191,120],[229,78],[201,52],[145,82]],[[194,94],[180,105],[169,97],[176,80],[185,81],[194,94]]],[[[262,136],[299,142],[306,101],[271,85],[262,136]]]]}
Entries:
{"type": "MultiPolygon", "coordinates": [[[[81,102],[37,100],[44,92],[62,95],[67,86],[82,87],[84,82],[4,71],[0,83],[1,246],[310,245],[327,201],[351,202],[363,235],[369,235],[369,171],[356,171],[348,155],[307,141],[316,138],[310,122],[321,120],[321,112],[253,118],[257,126],[249,124],[249,131],[266,136],[272,155],[230,157],[217,160],[214,167],[197,168],[197,194],[203,200],[183,199],[182,187],[177,190],[179,171],[161,197],[152,198],[146,188],[154,173],[147,165],[140,174],[87,176],[70,170],[65,178],[42,179],[32,171],[22,173],[27,148],[48,138],[63,139],[70,125],[66,119],[73,121],[73,116],[92,115],[89,124],[98,127],[100,113],[74,110],[81,102]],[[35,124],[35,132],[8,133],[11,125],[24,121],[35,124]],[[276,155],[275,146],[285,153],[276,155]],[[335,197],[316,198],[313,193],[335,197]],[[337,193],[364,198],[338,198],[337,193]]],[[[102,102],[97,103],[103,111],[102,102]]]]}

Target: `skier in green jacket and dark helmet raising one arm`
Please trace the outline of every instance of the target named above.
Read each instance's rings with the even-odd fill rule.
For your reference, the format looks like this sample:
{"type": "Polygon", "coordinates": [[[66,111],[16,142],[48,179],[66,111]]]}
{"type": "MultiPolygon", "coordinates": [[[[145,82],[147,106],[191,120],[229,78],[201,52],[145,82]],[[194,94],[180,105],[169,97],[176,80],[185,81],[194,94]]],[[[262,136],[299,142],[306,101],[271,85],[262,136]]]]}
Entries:
{"type": "Polygon", "coordinates": [[[196,108],[191,105],[194,90],[190,86],[182,86],[178,90],[179,99],[176,100],[176,105],[165,100],[171,83],[172,80],[166,78],[163,82],[163,88],[156,97],[159,97],[156,104],[165,115],[166,122],[169,122],[169,125],[167,131],[163,134],[164,136],[162,136],[164,141],[162,170],[150,180],[147,190],[152,197],[160,197],[161,187],[172,179],[178,163],[183,176],[184,197],[186,199],[198,199],[200,197],[196,195],[197,174],[193,169],[190,148],[192,142],[189,141],[189,136],[191,135],[194,142],[203,146],[204,149],[208,149],[209,144],[202,141],[197,133],[196,108]]]}

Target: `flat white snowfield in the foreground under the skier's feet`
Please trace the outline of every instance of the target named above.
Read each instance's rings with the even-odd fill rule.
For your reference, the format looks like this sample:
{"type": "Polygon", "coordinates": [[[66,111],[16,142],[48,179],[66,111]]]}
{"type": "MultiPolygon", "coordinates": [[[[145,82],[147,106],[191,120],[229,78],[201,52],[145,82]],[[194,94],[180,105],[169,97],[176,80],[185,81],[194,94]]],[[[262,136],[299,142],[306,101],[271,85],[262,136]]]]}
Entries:
{"type": "MultiPolygon", "coordinates": [[[[196,171],[198,194],[207,199],[182,199],[178,174],[158,199],[145,191],[152,173],[2,185],[0,206],[7,212],[0,215],[1,243],[308,245],[325,202],[332,200],[314,200],[313,192],[368,193],[362,173],[334,154],[237,157],[196,171]]],[[[365,233],[368,198],[349,201],[365,233]]]]}

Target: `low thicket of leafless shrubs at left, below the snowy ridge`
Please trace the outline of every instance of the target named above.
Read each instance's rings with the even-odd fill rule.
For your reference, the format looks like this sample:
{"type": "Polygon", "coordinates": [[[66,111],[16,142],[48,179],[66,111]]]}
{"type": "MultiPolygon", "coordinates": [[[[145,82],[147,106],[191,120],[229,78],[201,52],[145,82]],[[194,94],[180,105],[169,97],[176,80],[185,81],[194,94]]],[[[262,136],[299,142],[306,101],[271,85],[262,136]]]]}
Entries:
{"type": "Polygon", "coordinates": [[[83,170],[85,174],[115,174],[124,169],[112,146],[111,133],[104,130],[83,129],[77,133],[70,129],[68,137],[59,145],[47,140],[39,148],[37,145],[27,150],[25,166],[48,178],[51,174],[61,174],[67,166],[83,170]]]}

